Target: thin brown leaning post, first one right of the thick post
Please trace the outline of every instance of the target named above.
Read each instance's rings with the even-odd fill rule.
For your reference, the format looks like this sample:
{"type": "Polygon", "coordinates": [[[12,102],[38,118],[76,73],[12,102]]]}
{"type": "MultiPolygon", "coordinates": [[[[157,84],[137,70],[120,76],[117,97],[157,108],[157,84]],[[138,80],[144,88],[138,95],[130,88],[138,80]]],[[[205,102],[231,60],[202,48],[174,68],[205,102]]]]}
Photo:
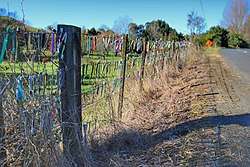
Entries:
{"type": "Polygon", "coordinates": [[[122,118],[123,98],[124,98],[125,79],[126,79],[126,67],[127,67],[127,47],[128,47],[128,34],[125,36],[124,49],[123,49],[123,68],[121,71],[122,85],[120,87],[119,102],[118,102],[119,119],[122,118]]]}

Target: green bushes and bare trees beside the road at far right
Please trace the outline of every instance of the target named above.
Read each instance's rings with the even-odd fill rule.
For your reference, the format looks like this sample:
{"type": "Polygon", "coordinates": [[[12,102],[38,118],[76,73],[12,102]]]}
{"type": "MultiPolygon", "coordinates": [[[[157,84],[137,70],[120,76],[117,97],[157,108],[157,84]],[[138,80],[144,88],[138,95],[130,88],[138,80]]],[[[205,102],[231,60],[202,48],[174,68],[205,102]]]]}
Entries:
{"type": "Polygon", "coordinates": [[[213,26],[203,33],[195,31],[203,27],[204,23],[195,24],[193,15],[195,15],[194,12],[188,14],[187,24],[191,36],[196,32],[193,38],[196,44],[204,46],[208,40],[211,40],[216,47],[246,48],[250,46],[250,11],[246,0],[230,0],[224,11],[222,25],[213,26]]]}

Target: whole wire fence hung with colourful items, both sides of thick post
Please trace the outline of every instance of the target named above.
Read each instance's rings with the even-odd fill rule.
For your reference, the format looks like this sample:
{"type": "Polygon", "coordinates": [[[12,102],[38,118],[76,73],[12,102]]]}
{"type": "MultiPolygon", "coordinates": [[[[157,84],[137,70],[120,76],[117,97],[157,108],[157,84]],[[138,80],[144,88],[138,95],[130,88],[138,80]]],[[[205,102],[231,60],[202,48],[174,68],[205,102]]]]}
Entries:
{"type": "MultiPolygon", "coordinates": [[[[0,34],[1,165],[71,166],[61,153],[63,130],[60,57],[69,36],[56,32],[0,34]],[[63,164],[63,165],[62,165],[63,164]]],[[[124,86],[143,82],[169,64],[181,69],[187,42],[146,41],[120,35],[82,35],[81,94],[83,141],[122,116],[124,86]]],[[[79,125],[76,125],[79,126],[79,125]]],[[[85,157],[86,158],[86,157],[85,157]]],[[[74,158],[72,158],[74,159],[74,158]]]]}

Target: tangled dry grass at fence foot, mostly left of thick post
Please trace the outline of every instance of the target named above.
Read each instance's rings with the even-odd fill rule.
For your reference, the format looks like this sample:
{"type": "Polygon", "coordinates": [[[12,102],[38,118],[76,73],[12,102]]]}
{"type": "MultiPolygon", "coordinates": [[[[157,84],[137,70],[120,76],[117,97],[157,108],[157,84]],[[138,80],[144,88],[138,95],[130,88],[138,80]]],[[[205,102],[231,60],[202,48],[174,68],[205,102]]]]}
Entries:
{"type": "MultiPolygon", "coordinates": [[[[67,148],[62,150],[60,147],[62,136],[59,118],[56,116],[52,119],[52,124],[44,122],[41,125],[42,121],[49,120],[43,119],[42,115],[52,111],[53,98],[49,99],[49,103],[48,99],[41,97],[17,104],[11,90],[5,93],[3,101],[5,127],[1,128],[5,129],[5,135],[0,148],[6,152],[7,158],[1,160],[1,166],[71,167],[71,155],[64,154],[67,148]]],[[[77,125],[72,128],[78,129],[77,125]]],[[[82,141],[78,141],[78,145],[81,150],[79,157],[85,166],[91,166],[93,161],[88,147],[82,141]]]]}

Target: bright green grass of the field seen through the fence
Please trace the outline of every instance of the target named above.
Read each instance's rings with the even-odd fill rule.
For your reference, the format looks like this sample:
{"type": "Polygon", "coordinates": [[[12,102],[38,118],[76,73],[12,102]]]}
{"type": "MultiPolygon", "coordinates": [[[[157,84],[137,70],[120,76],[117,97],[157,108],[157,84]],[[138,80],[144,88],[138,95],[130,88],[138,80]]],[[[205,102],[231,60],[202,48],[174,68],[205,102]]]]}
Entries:
{"type": "MultiPolygon", "coordinates": [[[[100,55],[88,55],[82,58],[82,65],[88,65],[88,69],[85,68],[84,79],[82,82],[82,93],[91,93],[93,91],[93,86],[102,84],[103,82],[110,82],[115,78],[118,78],[121,75],[122,66],[118,66],[119,62],[122,60],[122,57],[117,56],[107,56],[103,59],[100,55]],[[96,70],[97,64],[99,66],[99,71],[96,70]],[[105,64],[109,64],[109,71],[106,73],[105,64]],[[92,71],[93,68],[93,71],[92,71]],[[104,69],[104,70],[103,70],[104,69]],[[92,73],[92,75],[91,75],[92,73]]],[[[141,64],[141,59],[138,57],[129,56],[127,64],[128,68],[126,74],[131,74],[134,71],[138,70],[141,64]],[[132,59],[136,59],[135,65],[132,68],[132,59]]],[[[107,65],[106,65],[107,67],[107,65]]],[[[32,62],[18,62],[11,63],[9,61],[4,61],[0,64],[0,75],[12,75],[21,74],[21,71],[24,71],[24,74],[34,74],[40,72],[46,72],[50,76],[57,75],[58,66],[48,62],[46,64],[42,63],[32,63],[32,62]]],[[[82,69],[81,69],[82,73],[82,69]]],[[[48,85],[55,87],[56,85],[48,85]]]]}

